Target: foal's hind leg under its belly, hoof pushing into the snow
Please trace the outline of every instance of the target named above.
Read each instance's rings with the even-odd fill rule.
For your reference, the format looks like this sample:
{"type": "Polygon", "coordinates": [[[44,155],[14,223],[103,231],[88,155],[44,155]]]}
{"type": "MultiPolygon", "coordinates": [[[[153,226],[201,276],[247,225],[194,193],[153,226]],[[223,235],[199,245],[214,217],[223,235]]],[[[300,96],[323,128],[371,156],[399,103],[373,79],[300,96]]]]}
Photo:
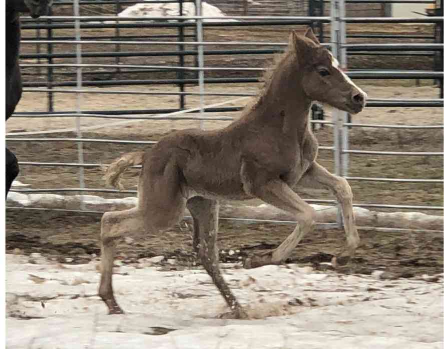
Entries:
{"type": "Polygon", "coordinates": [[[237,318],[246,318],[247,314],[231,292],[219,269],[219,250],[216,244],[218,202],[196,196],[188,200],[187,207],[193,216],[194,237],[199,237],[197,248],[202,265],[213,279],[214,284],[234,312],[234,315],[237,318]]]}

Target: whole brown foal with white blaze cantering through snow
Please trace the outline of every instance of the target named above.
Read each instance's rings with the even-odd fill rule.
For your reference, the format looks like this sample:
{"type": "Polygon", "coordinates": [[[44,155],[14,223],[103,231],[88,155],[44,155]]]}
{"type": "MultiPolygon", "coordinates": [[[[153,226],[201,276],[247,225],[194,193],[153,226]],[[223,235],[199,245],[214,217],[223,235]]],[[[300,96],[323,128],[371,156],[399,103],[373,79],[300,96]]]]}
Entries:
{"type": "Polygon", "coordinates": [[[151,149],[124,155],[108,168],[109,184],[129,167],[142,164],[138,206],[107,212],[102,218],[102,275],[99,295],[110,313],[122,313],[112,287],[116,238],[153,233],[178,223],[188,208],[193,217],[193,247],[236,317],[247,317],[221,275],[216,245],[218,200],[259,198],[293,214],[298,224],[276,249],[245,260],[246,267],[279,264],[304,234],[315,212],[293,190],[329,188],[341,205],[349,253],[359,244],[352,193],[344,178],[316,162],[317,141],[309,126],[312,101],[349,113],[360,112],[367,95],[341,71],[309,29],[292,32],[288,50],[253,104],[226,128],[189,129],[163,137],[151,149]]]}

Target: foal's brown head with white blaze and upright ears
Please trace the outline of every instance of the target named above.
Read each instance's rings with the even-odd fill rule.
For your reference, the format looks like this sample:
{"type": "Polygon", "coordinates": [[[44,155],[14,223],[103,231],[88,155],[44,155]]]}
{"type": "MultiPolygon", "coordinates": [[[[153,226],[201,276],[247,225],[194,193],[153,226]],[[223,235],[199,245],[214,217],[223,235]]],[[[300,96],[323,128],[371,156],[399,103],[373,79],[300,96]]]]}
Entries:
{"type": "Polygon", "coordinates": [[[305,35],[293,32],[290,50],[295,55],[295,68],[302,74],[302,88],[309,99],[351,114],[364,108],[367,94],[345,75],[332,54],[320,46],[311,29],[305,35]]]}

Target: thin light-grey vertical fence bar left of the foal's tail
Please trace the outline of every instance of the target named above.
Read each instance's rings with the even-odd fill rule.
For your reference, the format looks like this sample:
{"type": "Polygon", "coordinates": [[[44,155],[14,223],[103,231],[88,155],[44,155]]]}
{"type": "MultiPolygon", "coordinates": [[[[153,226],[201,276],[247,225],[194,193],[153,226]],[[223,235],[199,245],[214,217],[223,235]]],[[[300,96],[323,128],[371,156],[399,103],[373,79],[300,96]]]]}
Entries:
{"type": "MultiPolygon", "coordinates": [[[[80,16],[80,7],[79,7],[79,0],[74,0],[74,16],[80,16]]],[[[76,41],[81,40],[81,30],[80,30],[80,21],[75,21],[75,31],[76,31],[76,41]]],[[[82,64],[82,45],[77,44],[76,45],[76,63],[78,65],[82,64]]],[[[77,70],[77,89],[82,89],[82,67],[78,66],[77,70]]],[[[76,94],[76,113],[80,114],[82,113],[82,94],[77,93],[76,94]]],[[[82,129],[81,129],[81,118],[79,116],[76,117],[76,130],[77,130],[77,138],[82,138],[82,129]]],[[[77,142],[77,152],[78,152],[78,160],[79,163],[83,164],[83,142],[77,142]]],[[[83,167],[79,167],[79,185],[80,188],[85,188],[85,174],[83,167]]],[[[82,209],[85,209],[85,204],[83,202],[83,199],[81,201],[81,207],[82,209]]]]}

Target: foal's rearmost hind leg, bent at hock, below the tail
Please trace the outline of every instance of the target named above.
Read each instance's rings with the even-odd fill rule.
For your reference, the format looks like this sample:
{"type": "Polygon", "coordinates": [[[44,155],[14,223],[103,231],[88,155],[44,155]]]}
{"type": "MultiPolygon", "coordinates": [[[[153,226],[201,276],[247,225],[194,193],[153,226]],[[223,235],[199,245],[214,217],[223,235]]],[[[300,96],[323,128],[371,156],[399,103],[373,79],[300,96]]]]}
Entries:
{"type": "Polygon", "coordinates": [[[99,295],[106,303],[110,314],[122,314],[122,308],[114,298],[112,278],[116,239],[125,234],[140,234],[145,232],[144,221],[139,209],[106,212],[102,217],[101,239],[102,256],[99,295]]]}

